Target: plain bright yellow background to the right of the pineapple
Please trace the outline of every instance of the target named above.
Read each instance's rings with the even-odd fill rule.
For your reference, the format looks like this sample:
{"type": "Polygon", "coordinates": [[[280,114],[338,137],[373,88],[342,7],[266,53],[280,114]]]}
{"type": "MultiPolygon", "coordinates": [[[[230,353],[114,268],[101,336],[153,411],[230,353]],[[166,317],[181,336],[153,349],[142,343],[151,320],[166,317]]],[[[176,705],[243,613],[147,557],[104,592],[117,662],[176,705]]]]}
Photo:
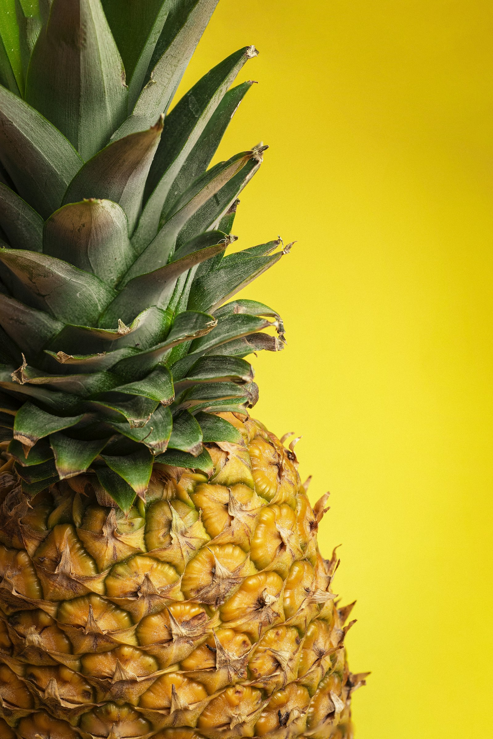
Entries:
{"type": "Polygon", "coordinates": [[[298,243],[245,290],[289,342],[254,414],[332,492],[357,739],[493,737],[492,39],[491,0],[221,0],[184,83],[261,52],[234,232],[298,243]]]}

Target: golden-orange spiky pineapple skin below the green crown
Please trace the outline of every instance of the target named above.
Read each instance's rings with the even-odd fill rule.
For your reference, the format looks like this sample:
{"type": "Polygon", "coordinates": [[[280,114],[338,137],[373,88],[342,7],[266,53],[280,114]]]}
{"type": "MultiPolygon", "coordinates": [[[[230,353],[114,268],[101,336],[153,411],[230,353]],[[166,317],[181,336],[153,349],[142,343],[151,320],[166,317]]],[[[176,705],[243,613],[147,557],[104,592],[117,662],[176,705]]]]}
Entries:
{"type": "Polygon", "coordinates": [[[206,445],[210,479],[155,464],[127,517],[91,475],[28,501],[0,469],[0,739],[353,737],[326,497],[220,415],[244,443],[206,445]]]}

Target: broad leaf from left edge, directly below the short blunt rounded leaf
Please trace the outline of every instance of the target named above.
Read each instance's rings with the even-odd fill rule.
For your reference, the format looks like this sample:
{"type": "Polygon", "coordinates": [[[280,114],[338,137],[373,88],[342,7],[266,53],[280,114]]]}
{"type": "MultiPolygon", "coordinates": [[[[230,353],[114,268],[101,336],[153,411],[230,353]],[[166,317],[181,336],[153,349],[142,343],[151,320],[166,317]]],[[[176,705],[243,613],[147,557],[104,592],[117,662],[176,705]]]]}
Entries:
{"type": "Polygon", "coordinates": [[[8,270],[4,281],[15,285],[16,294],[24,302],[60,321],[96,323],[115,298],[115,291],[98,277],[54,256],[0,249],[0,262],[8,270]]]}

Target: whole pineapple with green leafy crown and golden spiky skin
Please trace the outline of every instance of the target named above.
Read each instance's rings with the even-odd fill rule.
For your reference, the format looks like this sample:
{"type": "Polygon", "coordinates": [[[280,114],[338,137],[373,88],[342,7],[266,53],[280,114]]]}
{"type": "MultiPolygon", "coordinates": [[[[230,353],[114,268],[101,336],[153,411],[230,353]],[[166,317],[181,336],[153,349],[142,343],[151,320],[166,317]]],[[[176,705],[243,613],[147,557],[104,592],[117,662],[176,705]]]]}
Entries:
{"type": "Polygon", "coordinates": [[[1,16],[1,739],[353,736],[326,496],[248,414],[285,339],[234,296],[290,247],[225,252],[266,147],[209,168],[255,48],[169,112],[216,4],[1,16]]]}

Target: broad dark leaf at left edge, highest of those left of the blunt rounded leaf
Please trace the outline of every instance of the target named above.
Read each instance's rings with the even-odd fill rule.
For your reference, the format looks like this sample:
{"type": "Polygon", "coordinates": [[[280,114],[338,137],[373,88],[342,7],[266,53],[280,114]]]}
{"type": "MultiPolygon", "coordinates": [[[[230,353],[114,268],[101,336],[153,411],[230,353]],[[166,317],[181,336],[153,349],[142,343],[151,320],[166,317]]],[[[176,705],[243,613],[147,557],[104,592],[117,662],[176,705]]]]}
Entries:
{"type": "Polygon", "coordinates": [[[60,207],[83,160],[49,120],[1,86],[0,123],[4,167],[21,197],[43,218],[49,217],[60,207]]]}

